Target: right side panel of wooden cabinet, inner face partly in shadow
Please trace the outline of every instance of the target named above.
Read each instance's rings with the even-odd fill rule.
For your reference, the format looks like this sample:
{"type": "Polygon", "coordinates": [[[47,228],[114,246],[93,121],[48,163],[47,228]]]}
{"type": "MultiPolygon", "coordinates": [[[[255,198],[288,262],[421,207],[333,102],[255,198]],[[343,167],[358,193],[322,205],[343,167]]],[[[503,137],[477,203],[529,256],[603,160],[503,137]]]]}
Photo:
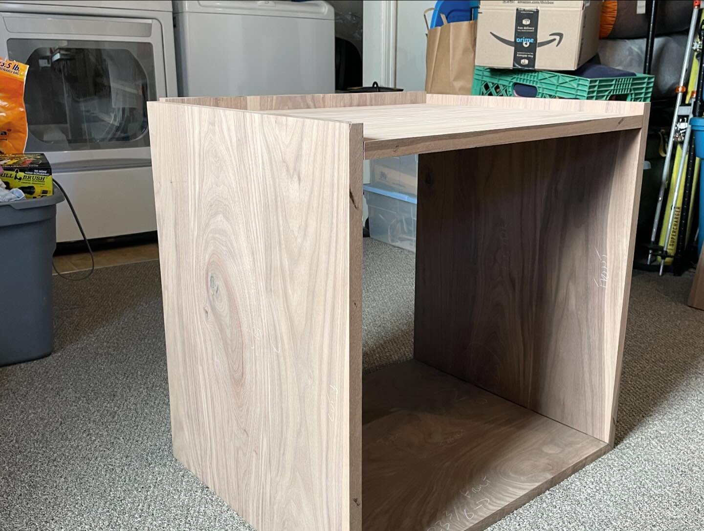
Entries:
{"type": "Polygon", "coordinates": [[[420,156],[415,358],[611,442],[641,139],[420,156]]]}

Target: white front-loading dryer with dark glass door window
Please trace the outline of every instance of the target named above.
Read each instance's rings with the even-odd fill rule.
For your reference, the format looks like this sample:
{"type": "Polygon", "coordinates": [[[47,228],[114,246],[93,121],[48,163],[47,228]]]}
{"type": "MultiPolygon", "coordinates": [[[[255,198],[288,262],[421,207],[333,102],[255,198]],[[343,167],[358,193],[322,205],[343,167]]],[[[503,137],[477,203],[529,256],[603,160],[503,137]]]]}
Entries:
{"type": "MultiPolygon", "coordinates": [[[[156,230],[146,102],[177,95],[172,4],[0,1],[0,56],[27,63],[26,151],[41,151],[89,238],[156,230]]],[[[65,203],[57,240],[80,239],[65,203]]]]}

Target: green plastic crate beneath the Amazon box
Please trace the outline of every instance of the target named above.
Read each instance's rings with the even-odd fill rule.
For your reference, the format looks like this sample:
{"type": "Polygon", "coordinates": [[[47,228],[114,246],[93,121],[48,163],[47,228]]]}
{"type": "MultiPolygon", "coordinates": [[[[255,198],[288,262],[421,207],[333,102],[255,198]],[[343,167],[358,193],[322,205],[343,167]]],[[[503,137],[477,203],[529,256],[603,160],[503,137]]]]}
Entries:
{"type": "Polygon", "coordinates": [[[513,96],[513,86],[521,83],[536,87],[536,98],[650,101],[654,80],[655,76],[646,74],[586,79],[577,75],[543,70],[500,70],[477,66],[474,68],[472,94],[513,96]]]}

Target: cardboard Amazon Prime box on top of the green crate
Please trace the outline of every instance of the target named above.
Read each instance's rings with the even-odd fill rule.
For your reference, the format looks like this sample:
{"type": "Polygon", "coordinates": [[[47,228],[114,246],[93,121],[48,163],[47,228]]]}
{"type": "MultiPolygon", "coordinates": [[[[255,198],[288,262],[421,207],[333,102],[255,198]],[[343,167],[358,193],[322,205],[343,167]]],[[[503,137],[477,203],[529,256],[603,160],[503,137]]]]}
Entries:
{"type": "Polygon", "coordinates": [[[596,55],[601,0],[482,0],[475,63],[575,70],[596,55]]]}

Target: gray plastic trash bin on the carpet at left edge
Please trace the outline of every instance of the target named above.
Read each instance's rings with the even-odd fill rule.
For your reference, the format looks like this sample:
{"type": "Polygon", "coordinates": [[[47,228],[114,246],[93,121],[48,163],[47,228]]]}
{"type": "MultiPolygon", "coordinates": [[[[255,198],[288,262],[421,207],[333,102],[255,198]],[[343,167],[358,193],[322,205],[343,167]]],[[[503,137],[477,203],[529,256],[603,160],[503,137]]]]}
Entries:
{"type": "Polygon", "coordinates": [[[51,256],[56,249],[53,196],[0,203],[0,366],[54,349],[51,256]]]}

